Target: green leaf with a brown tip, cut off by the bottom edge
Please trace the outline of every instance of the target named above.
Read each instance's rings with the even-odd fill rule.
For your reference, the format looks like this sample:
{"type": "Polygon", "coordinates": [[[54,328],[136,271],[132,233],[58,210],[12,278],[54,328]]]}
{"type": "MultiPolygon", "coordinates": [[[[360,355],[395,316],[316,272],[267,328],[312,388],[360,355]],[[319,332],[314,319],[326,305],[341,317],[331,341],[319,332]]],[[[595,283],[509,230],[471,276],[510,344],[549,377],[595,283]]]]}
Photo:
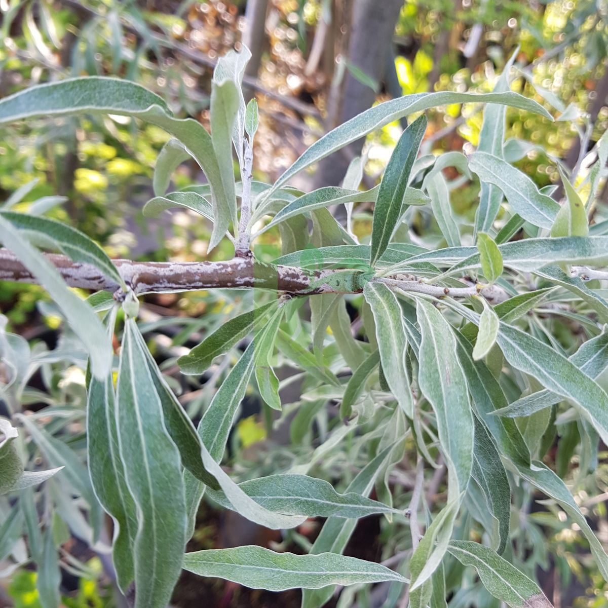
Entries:
{"type": "Polygon", "coordinates": [[[474,567],[483,586],[511,608],[553,608],[541,588],[496,551],[471,541],[451,541],[447,550],[474,567]]]}

